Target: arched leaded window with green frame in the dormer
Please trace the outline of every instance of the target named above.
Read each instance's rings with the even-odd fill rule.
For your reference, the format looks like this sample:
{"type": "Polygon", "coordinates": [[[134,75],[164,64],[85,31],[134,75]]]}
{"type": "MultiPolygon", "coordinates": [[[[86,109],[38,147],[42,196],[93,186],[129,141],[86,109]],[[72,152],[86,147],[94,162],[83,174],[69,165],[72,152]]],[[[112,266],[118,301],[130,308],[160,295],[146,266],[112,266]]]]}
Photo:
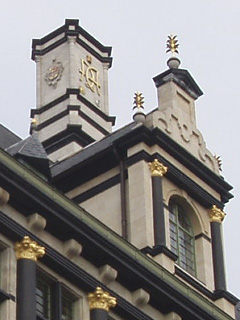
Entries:
{"type": "Polygon", "coordinates": [[[183,206],[174,200],[169,203],[171,250],[178,256],[178,265],[196,275],[194,235],[191,221],[183,206]]]}

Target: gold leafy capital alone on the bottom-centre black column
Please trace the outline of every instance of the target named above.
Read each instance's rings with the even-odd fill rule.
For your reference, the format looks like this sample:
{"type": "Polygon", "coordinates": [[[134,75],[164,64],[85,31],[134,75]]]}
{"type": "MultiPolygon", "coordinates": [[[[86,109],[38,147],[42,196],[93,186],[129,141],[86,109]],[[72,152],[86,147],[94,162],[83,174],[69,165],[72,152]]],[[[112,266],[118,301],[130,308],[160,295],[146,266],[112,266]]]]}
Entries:
{"type": "Polygon", "coordinates": [[[103,291],[102,288],[97,287],[93,293],[88,294],[88,303],[90,310],[102,309],[109,311],[110,308],[116,306],[117,299],[110,296],[108,292],[103,291]]]}

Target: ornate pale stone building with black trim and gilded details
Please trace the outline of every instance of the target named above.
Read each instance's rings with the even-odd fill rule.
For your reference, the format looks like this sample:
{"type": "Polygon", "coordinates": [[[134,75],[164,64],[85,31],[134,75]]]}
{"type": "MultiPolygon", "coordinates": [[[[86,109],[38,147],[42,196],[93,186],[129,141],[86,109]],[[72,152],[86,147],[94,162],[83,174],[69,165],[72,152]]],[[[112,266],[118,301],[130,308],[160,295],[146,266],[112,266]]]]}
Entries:
{"type": "Polygon", "coordinates": [[[32,59],[30,135],[0,126],[0,319],[235,319],[232,187],[196,127],[190,73],[170,58],[158,107],[145,115],[136,93],[133,122],[113,131],[110,47],[66,20],[32,59]]]}

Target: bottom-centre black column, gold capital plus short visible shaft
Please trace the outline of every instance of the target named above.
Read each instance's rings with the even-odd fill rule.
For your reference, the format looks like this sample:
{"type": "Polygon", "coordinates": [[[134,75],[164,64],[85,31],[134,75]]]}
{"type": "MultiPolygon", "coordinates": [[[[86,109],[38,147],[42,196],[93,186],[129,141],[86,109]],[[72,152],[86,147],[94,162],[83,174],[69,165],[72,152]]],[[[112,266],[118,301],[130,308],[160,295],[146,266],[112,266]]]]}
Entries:
{"type": "Polygon", "coordinates": [[[90,308],[90,320],[108,320],[110,308],[114,308],[117,299],[111,297],[108,292],[97,287],[93,293],[88,294],[88,303],[90,308]]]}

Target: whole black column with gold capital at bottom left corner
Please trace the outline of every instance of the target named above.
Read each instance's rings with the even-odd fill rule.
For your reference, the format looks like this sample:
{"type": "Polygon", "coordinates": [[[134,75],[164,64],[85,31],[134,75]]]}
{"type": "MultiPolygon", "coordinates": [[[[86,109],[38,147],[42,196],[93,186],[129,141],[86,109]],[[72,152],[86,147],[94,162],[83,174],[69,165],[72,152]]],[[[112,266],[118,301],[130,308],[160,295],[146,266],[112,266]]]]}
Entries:
{"type": "Polygon", "coordinates": [[[45,249],[25,236],[15,245],[17,257],[17,320],[36,319],[36,261],[45,249]]]}

